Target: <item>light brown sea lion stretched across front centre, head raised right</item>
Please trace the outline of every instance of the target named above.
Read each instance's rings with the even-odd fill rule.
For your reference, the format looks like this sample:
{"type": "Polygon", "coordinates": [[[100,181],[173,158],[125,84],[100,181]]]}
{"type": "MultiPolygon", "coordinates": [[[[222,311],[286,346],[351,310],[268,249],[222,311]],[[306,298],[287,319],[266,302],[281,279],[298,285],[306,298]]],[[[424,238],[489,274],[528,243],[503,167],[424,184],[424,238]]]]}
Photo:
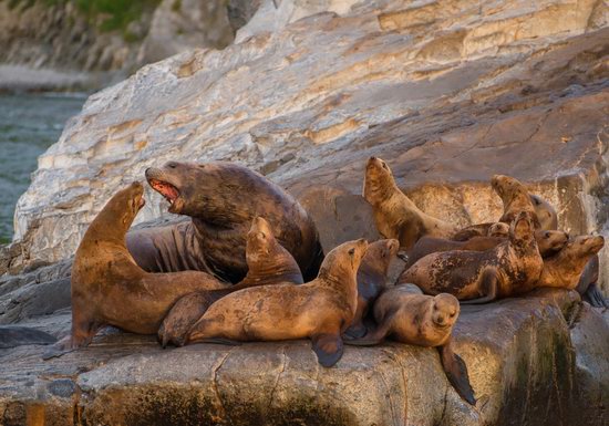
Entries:
{"type": "Polygon", "coordinates": [[[357,273],[365,254],[364,239],[328,253],[319,276],[301,285],[254,287],[215,302],[193,326],[188,343],[219,337],[281,341],[310,337],[319,363],[334,365],[342,356],[341,334],[358,308],[357,273]]]}

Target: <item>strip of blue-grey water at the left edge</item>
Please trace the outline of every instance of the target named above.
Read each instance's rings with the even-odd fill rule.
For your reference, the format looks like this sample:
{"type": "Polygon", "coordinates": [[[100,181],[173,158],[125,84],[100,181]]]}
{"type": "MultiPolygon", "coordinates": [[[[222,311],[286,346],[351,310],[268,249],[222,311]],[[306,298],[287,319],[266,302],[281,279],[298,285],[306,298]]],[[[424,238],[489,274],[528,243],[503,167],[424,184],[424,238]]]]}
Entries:
{"type": "Polygon", "coordinates": [[[0,243],[13,235],[14,205],[30,185],[38,156],[55,143],[84,94],[0,95],[0,243]]]}

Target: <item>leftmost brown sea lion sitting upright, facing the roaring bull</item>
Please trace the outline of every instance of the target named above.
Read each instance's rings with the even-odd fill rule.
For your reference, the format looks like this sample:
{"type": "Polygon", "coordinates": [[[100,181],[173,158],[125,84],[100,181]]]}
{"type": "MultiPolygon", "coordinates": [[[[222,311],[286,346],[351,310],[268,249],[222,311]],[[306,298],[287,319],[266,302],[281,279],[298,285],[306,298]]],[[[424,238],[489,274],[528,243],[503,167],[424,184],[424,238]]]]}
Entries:
{"type": "Polygon", "coordinates": [[[72,332],[55,350],[85,346],[105,325],[155,334],[184,294],[227,287],[205,272],[148,273],[135,263],[125,235],[144,206],[143,193],[140,183],[120,190],[89,226],[72,266],[72,332]]]}

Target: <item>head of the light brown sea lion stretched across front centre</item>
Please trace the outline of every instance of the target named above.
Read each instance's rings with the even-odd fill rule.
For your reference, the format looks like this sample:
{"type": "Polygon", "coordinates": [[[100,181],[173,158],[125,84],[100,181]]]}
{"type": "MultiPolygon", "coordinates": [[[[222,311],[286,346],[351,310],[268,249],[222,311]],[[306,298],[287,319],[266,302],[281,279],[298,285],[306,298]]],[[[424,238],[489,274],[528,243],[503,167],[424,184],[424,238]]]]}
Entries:
{"type": "Polygon", "coordinates": [[[354,278],[367,250],[368,241],[363,238],[343,242],[326,256],[318,277],[331,281],[342,281],[347,277],[354,278]]]}

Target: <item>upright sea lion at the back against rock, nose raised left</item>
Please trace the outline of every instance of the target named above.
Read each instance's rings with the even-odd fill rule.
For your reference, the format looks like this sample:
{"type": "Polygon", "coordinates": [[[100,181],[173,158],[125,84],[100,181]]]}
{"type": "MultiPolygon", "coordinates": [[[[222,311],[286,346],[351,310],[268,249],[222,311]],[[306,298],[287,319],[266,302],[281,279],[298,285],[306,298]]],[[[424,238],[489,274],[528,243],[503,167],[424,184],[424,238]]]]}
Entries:
{"type": "Polygon", "coordinates": [[[453,225],[419,209],[398,188],[391,169],[380,158],[370,157],[365,165],[362,195],[372,206],[379,232],[399,240],[403,249],[411,249],[423,236],[450,238],[457,231],[453,225]]]}

